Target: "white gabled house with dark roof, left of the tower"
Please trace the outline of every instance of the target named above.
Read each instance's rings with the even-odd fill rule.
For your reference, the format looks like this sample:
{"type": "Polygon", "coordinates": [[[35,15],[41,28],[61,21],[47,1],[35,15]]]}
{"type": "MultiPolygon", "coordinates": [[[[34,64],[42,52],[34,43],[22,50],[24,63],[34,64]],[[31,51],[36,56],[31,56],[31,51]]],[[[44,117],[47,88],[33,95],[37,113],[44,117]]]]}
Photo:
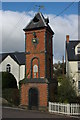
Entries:
{"type": "Polygon", "coordinates": [[[17,86],[25,78],[25,53],[3,53],[0,55],[0,72],[8,71],[14,75],[17,86]]]}

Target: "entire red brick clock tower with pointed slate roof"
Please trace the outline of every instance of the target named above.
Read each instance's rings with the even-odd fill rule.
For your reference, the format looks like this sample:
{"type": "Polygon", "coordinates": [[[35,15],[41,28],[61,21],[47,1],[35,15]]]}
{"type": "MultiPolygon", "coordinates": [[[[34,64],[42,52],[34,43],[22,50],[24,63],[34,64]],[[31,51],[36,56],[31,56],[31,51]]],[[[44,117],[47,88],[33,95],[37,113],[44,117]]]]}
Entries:
{"type": "MultiPolygon", "coordinates": [[[[49,20],[39,12],[25,31],[26,79],[21,81],[21,105],[47,108],[53,80],[52,37],[49,20]]],[[[54,92],[54,91],[53,91],[54,92]]]]}

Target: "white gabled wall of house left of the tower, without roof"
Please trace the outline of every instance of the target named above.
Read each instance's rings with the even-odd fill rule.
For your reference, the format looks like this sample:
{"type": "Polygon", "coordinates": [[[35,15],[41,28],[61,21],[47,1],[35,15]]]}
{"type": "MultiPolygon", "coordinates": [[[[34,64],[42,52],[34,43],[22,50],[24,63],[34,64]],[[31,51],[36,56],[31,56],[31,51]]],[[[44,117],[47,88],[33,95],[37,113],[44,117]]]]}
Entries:
{"type": "Polygon", "coordinates": [[[19,81],[25,77],[25,65],[19,66],[10,56],[7,56],[0,64],[0,72],[6,71],[6,65],[11,65],[11,72],[17,80],[17,86],[19,87],[19,81]]]}

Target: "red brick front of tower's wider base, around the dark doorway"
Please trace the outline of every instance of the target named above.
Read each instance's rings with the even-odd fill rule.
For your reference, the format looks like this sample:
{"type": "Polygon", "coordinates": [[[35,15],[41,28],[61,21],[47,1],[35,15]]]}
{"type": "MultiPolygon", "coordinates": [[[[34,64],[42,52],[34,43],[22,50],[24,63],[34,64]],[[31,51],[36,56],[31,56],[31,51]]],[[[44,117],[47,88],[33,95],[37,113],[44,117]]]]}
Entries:
{"type": "Polygon", "coordinates": [[[22,84],[21,86],[21,105],[28,106],[30,88],[38,89],[39,106],[47,107],[48,104],[48,85],[39,83],[22,84]]]}

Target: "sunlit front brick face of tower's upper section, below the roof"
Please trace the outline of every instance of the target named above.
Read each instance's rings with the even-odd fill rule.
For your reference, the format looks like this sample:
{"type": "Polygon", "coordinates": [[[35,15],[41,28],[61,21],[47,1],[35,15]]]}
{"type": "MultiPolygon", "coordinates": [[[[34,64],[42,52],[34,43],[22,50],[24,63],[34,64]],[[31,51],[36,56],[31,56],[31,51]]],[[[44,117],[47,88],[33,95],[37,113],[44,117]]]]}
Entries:
{"type": "Polygon", "coordinates": [[[31,78],[31,60],[33,58],[38,58],[40,78],[45,78],[45,29],[29,31],[26,32],[25,35],[26,52],[29,53],[26,54],[26,75],[28,75],[27,78],[31,78]],[[32,39],[34,38],[33,32],[36,33],[36,37],[38,39],[38,44],[36,47],[32,43],[32,39]]]}

